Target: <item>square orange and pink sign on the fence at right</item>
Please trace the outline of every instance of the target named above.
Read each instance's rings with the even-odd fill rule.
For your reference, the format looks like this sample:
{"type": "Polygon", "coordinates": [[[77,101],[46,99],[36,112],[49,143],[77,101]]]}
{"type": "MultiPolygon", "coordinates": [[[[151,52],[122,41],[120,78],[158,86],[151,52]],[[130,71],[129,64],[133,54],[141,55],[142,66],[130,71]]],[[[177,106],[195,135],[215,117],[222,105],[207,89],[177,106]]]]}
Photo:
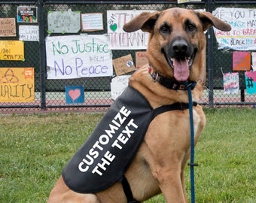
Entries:
{"type": "Polygon", "coordinates": [[[251,53],[245,51],[233,52],[233,71],[249,71],[251,68],[251,53]]]}

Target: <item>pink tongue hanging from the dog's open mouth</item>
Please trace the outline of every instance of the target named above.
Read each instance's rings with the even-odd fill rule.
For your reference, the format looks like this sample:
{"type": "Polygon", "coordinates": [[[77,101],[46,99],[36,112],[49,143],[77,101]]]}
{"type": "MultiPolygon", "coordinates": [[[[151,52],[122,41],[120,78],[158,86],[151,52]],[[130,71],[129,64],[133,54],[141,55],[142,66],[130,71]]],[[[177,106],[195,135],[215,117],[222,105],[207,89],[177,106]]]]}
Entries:
{"type": "Polygon", "coordinates": [[[186,59],[174,59],[174,77],[178,81],[185,81],[189,77],[189,67],[186,59]]]}

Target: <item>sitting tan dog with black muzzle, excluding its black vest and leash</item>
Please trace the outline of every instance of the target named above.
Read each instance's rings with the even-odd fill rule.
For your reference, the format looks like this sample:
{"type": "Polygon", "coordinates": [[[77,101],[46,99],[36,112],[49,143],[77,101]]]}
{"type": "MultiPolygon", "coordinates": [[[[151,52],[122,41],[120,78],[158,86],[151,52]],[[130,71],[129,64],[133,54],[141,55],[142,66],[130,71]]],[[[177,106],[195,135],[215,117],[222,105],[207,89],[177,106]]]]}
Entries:
{"type": "MultiPolygon", "coordinates": [[[[203,95],[206,82],[204,31],[210,26],[222,31],[230,30],[227,23],[208,12],[182,8],[144,12],[123,27],[126,32],[142,29],[150,33],[149,65],[133,74],[130,86],[144,95],[151,108],[187,104],[187,90],[183,82],[197,82],[192,91],[196,143],[206,124],[203,110],[196,102],[203,95]]],[[[184,167],[190,156],[189,117],[187,108],[181,108],[162,112],[149,124],[145,138],[125,172],[136,201],[145,201],[163,192],[167,202],[187,202],[184,167]]],[[[48,202],[120,203],[127,202],[127,198],[120,182],[101,192],[85,194],[69,189],[60,177],[48,202]]]]}

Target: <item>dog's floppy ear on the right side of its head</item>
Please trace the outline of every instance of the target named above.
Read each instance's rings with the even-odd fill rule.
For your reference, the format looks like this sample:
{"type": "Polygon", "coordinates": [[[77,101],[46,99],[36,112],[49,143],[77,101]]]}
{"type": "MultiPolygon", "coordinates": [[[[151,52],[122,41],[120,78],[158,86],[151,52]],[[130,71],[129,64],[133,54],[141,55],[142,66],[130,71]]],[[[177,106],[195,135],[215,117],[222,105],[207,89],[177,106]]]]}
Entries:
{"type": "Polygon", "coordinates": [[[209,12],[196,12],[196,14],[203,23],[203,31],[206,31],[211,26],[215,26],[216,29],[220,29],[221,31],[230,31],[231,29],[229,24],[209,12]]]}

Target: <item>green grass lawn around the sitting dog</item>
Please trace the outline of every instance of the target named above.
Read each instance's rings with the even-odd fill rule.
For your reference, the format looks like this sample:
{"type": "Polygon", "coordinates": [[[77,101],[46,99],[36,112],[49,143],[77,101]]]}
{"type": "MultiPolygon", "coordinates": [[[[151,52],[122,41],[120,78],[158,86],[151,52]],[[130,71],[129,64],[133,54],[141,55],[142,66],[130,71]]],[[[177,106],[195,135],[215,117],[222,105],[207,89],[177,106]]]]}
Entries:
{"type": "MultiPolygon", "coordinates": [[[[197,202],[256,202],[256,109],[205,109],[195,151],[197,202]]],[[[0,202],[45,202],[102,114],[2,115],[0,202]]],[[[190,198],[189,168],[187,195],[190,198]]],[[[163,195],[147,203],[165,202],[163,195]]]]}

